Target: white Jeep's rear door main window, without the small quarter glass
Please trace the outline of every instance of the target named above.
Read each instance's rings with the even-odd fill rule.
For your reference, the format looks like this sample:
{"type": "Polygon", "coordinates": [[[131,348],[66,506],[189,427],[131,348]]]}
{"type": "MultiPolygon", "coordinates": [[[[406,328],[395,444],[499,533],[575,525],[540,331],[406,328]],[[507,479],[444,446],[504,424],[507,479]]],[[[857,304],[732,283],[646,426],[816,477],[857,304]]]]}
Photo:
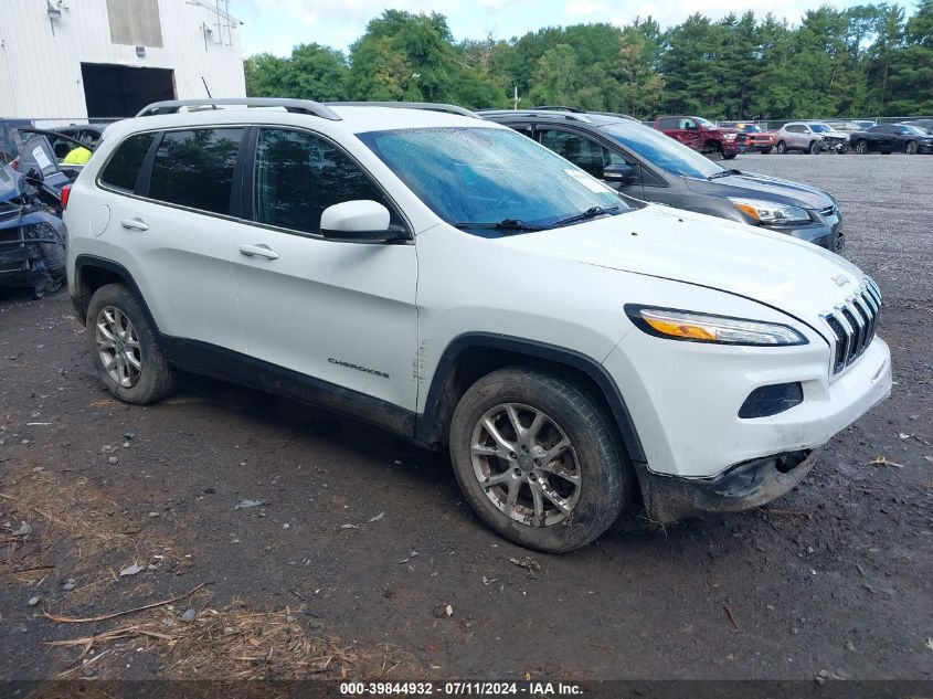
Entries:
{"type": "Polygon", "coordinates": [[[212,213],[230,213],[242,128],[166,131],[149,181],[149,198],[212,213]]]}

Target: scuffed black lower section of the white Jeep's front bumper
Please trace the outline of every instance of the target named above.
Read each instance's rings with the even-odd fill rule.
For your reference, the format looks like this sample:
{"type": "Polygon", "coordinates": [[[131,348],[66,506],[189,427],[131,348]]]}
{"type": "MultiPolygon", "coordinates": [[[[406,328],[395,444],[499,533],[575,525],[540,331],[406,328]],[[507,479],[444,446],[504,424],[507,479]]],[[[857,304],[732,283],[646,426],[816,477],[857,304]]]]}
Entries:
{"type": "Polygon", "coordinates": [[[741,512],[793,490],[819,452],[802,451],[756,458],[714,478],[676,478],[643,470],[642,496],[648,518],[668,523],[703,512],[741,512]]]}

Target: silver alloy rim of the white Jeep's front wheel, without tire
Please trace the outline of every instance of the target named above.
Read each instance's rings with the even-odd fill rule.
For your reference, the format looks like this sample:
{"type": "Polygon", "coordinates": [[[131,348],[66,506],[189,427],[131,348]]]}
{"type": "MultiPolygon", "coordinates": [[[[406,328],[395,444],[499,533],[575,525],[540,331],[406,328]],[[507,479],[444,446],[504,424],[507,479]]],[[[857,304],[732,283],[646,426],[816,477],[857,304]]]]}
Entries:
{"type": "Polygon", "coordinates": [[[488,410],[474,427],[470,459],[486,497],[515,521],[550,527],[572,518],[580,464],[566,433],[542,411],[521,403],[488,410]]]}

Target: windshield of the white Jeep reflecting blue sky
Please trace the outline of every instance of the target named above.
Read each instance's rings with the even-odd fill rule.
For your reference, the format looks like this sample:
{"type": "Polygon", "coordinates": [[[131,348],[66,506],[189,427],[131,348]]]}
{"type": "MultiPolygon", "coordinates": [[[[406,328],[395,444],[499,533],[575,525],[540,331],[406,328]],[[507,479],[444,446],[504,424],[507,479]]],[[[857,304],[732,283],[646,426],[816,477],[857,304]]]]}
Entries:
{"type": "Polygon", "coordinates": [[[628,210],[614,190],[511,129],[415,128],[358,137],[452,225],[515,234],[519,223],[549,226],[589,210],[628,210]],[[491,225],[503,222],[510,225],[491,225]]]}

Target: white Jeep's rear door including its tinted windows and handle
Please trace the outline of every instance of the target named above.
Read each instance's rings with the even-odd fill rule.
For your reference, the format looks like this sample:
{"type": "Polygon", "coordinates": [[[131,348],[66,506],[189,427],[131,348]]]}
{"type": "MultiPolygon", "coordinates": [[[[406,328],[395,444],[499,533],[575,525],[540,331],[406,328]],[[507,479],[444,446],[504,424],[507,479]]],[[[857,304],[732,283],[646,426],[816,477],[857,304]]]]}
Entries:
{"type": "Polygon", "coordinates": [[[235,351],[245,342],[230,266],[231,200],[245,131],[129,137],[99,178],[116,194],[106,199],[109,211],[95,214],[107,215],[112,257],[139,285],[161,332],[235,351]]]}

